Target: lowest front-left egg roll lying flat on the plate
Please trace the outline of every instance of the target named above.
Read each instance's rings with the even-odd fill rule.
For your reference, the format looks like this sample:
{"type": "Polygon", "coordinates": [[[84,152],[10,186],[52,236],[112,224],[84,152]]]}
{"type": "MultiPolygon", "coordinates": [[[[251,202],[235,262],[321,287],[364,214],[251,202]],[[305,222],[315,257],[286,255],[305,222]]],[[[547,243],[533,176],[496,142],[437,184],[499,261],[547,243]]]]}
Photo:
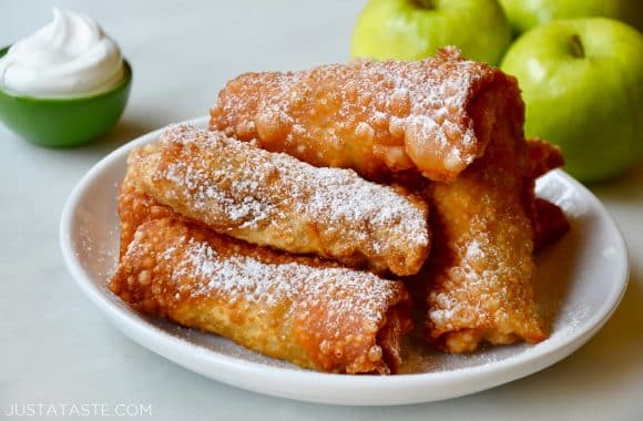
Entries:
{"type": "Polygon", "coordinates": [[[401,283],[174,218],[137,228],[109,286],[136,310],[320,371],[395,372],[412,325],[401,283]]]}

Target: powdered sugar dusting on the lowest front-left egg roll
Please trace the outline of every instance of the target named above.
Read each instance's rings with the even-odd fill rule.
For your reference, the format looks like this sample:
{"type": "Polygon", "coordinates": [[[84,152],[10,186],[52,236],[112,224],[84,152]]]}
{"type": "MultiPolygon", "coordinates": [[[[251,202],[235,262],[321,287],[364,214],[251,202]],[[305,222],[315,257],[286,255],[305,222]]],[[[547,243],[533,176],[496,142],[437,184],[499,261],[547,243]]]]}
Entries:
{"type": "MultiPolygon", "coordinates": [[[[263,302],[267,306],[316,306],[324,300],[328,315],[354,315],[378,325],[381,309],[399,294],[399,286],[374,274],[343,267],[312,266],[303,261],[271,261],[271,255],[237,253],[221,255],[216,245],[182,236],[162,259],[176,265],[172,279],[178,291],[192,297],[225,295],[233,304],[263,302]],[[183,279],[192,279],[185,283],[183,279]]],[[[333,317],[330,317],[333,318],[333,317]]]]}

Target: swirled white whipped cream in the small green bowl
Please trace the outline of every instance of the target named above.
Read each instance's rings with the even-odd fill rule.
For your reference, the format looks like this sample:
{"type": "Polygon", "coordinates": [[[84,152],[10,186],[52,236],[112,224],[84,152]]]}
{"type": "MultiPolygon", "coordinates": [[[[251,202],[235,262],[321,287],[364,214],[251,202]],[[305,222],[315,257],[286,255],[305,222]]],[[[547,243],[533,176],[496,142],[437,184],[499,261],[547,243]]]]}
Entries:
{"type": "Polygon", "coordinates": [[[115,86],[124,75],[116,43],[90,17],[53,9],[53,21],[0,59],[0,86],[18,94],[69,97],[115,86]]]}

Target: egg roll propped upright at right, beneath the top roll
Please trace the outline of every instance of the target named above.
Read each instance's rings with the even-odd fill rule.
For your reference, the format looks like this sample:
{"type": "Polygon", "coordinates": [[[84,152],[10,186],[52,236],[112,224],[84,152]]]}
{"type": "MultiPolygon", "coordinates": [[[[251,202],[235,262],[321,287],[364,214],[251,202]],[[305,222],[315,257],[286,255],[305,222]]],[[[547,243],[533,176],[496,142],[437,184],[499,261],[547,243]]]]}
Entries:
{"type": "Polygon", "coordinates": [[[452,183],[427,188],[435,233],[428,338],[449,352],[545,338],[531,285],[533,164],[523,109],[511,100],[498,106],[484,155],[452,183]]]}

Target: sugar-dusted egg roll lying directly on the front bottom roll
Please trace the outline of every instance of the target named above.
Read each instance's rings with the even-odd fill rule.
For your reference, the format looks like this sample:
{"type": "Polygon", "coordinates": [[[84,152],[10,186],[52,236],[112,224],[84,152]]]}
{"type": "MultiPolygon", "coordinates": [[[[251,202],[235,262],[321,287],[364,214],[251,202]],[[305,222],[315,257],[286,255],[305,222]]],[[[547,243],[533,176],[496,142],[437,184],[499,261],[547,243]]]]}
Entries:
{"type": "Polygon", "coordinates": [[[160,203],[248,243],[396,275],[417,273],[429,250],[418,195],[221,133],[171,126],[159,145],[134,151],[130,166],[160,203]]]}

